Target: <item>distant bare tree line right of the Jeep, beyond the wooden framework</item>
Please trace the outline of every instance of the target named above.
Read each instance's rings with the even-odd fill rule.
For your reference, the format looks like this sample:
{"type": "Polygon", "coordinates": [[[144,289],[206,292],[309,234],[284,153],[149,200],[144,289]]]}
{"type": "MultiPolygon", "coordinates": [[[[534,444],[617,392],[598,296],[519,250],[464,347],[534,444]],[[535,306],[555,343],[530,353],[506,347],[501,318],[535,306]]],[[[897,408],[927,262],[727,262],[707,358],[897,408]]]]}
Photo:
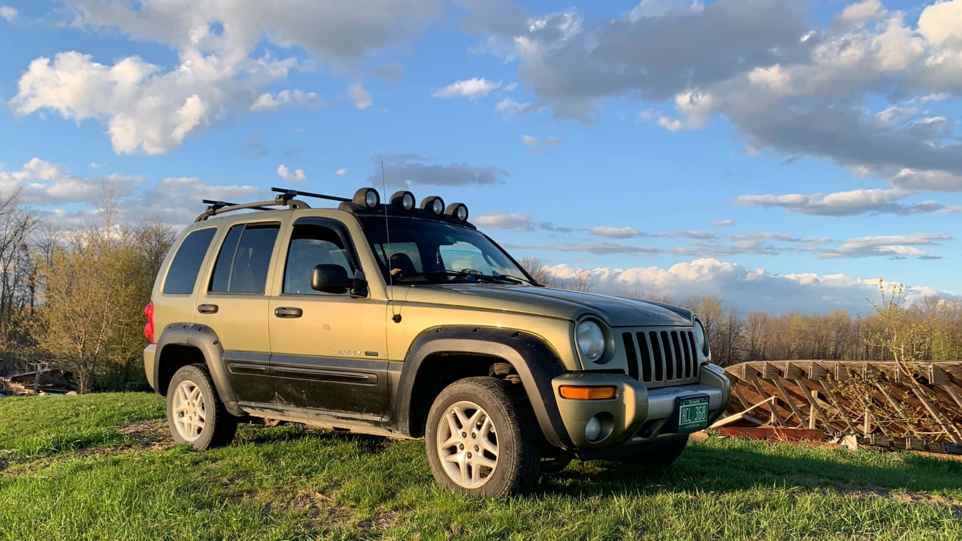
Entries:
{"type": "MultiPolygon", "coordinates": [[[[548,287],[591,291],[591,274],[582,270],[570,279],[559,279],[537,258],[519,262],[548,287]]],[[[669,296],[640,290],[620,296],[646,298],[695,310],[705,326],[712,359],[722,366],[744,361],[824,359],[894,360],[891,337],[896,336],[912,352],[913,360],[962,359],[962,302],[926,296],[906,304],[901,289],[883,289],[877,305],[866,300],[869,314],[852,315],[839,308],[827,314],[790,311],[770,314],[763,310],[742,311],[725,304],[721,296],[669,296]],[[890,314],[891,312],[891,314],[890,314]]]]}

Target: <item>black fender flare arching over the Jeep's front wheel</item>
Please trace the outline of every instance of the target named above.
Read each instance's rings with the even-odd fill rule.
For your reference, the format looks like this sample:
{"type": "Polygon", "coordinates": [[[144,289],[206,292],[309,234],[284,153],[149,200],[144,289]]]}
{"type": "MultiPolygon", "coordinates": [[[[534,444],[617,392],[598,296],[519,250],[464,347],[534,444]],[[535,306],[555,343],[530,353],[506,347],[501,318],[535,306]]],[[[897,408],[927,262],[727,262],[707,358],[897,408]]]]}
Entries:
{"type": "Polygon", "coordinates": [[[563,449],[572,447],[551,387],[551,379],[568,372],[565,365],[541,337],[497,327],[450,325],[418,334],[404,359],[394,400],[397,429],[402,433],[410,436],[413,432],[410,408],[414,384],[424,359],[434,353],[486,355],[511,364],[548,443],[563,449]]]}

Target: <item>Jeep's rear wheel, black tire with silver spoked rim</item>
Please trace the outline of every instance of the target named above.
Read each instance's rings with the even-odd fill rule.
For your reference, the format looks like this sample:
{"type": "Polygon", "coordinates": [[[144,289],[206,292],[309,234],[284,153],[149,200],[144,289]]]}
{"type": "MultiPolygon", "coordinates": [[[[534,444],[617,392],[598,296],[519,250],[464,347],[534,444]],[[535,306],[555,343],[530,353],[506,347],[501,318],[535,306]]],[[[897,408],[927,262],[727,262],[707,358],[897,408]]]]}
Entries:
{"type": "Polygon", "coordinates": [[[175,442],[205,451],[231,443],[238,419],[224,409],[207,368],[188,365],[167,387],[167,425],[175,442]]]}

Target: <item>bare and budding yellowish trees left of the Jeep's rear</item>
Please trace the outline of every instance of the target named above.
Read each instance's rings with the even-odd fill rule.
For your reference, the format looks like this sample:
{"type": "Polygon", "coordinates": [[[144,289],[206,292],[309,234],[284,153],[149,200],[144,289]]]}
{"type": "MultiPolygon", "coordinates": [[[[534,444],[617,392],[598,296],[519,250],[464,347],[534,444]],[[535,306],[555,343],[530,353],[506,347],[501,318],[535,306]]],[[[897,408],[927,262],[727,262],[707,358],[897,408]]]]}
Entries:
{"type": "Polygon", "coordinates": [[[142,312],[176,232],[118,222],[109,190],[96,215],[65,228],[19,193],[0,197],[0,374],[58,369],[81,393],[147,388],[142,312]]]}

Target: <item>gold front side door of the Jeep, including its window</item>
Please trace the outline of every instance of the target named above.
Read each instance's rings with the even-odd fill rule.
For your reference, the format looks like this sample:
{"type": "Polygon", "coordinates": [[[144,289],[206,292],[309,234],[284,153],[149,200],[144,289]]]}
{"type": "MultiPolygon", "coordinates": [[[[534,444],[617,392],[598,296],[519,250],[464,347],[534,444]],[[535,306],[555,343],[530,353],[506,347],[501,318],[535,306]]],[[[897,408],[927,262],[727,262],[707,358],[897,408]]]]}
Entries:
{"type": "Polygon", "coordinates": [[[316,265],[341,265],[353,276],[357,261],[337,220],[294,223],[267,310],[270,371],[281,403],[377,421],[389,414],[387,301],[311,289],[316,265]]]}

